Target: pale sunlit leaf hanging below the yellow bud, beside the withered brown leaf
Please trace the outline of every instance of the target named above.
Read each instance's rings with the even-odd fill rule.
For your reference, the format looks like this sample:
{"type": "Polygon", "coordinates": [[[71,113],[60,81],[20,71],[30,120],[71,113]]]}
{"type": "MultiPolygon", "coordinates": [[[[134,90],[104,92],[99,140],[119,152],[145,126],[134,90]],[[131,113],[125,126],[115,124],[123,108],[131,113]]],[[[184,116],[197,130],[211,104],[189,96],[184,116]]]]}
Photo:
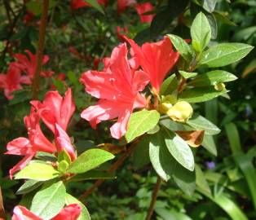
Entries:
{"type": "Polygon", "coordinates": [[[192,150],[183,139],[170,130],[161,130],[165,139],[166,147],[174,159],[183,165],[184,168],[193,171],[195,168],[192,150]]]}

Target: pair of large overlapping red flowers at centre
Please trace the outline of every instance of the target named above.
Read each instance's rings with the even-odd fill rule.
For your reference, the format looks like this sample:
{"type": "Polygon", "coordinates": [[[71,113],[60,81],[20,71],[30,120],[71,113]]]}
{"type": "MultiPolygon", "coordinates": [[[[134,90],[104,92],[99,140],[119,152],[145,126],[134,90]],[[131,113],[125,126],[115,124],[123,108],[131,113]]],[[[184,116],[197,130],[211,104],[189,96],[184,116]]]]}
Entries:
{"type": "Polygon", "coordinates": [[[167,37],[143,46],[127,37],[126,41],[131,46],[130,59],[126,43],[122,43],[113,49],[109,58],[104,59],[102,71],[87,71],[80,79],[86,92],[99,99],[94,106],[86,108],[81,117],[90,121],[93,128],[101,121],[117,118],[110,128],[115,139],[126,134],[133,110],[147,107],[147,99],[141,92],[148,82],[151,90],[158,94],[166,74],[179,59],[179,53],[173,50],[167,37]]]}

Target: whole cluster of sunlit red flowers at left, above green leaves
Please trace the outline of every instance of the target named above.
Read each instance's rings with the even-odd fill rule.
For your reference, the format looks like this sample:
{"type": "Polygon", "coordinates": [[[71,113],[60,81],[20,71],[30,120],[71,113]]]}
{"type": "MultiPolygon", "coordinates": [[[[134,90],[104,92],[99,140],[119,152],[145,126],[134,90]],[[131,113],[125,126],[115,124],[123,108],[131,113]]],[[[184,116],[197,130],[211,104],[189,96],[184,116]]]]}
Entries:
{"type": "Polygon", "coordinates": [[[29,116],[24,117],[29,137],[20,137],[7,144],[6,154],[24,156],[17,165],[10,169],[10,178],[16,171],[23,169],[37,152],[60,153],[65,150],[72,161],[77,157],[71,140],[66,134],[68,122],[75,111],[71,89],[68,89],[64,98],[57,91],[49,91],[42,103],[33,100],[31,104],[29,116]],[[40,120],[54,134],[55,143],[51,143],[43,134],[40,120]]]}

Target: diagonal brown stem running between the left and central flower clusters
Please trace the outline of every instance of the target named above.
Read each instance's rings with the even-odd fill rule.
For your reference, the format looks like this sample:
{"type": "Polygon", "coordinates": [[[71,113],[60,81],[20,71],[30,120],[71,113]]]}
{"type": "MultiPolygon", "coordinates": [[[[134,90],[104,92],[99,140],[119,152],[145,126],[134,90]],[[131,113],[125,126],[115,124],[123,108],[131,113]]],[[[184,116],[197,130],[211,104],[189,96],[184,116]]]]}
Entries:
{"type": "MultiPolygon", "coordinates": [[[[113,173],[115,172],[119,166],[121,166],[123,164],[123,162],[126,160],[126,158],[128,156],[130,156],[130,153],[133,152],[133,150],[135,149],[137,141],[135,141],[133,144],[131,144],[131,146],[126,150],[126,152],[123,152],[123,154],[120,156],[120,158],[113,163],[113,165],[108,169],[108,173],[113,173]]],[[[95,182],[95,184],[88,188],[83,194],[82,196],[79,197],[79,200],[84,200],[86,199],[87,196],[90,196],[90,194],[97,188],[99,187],[102,183],[104,183],[104,179],[99,179],[95,182]]]]}

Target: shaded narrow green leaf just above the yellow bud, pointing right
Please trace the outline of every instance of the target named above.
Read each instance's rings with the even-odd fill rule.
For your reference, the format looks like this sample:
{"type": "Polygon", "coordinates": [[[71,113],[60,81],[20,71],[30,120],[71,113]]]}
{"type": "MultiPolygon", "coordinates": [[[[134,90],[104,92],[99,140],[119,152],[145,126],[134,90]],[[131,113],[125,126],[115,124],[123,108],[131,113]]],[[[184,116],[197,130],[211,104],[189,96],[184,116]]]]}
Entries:
{"type": "Polygon", "coordinates": [[[214,86],[210,87],[198,87],[190,90],[184,90],[179,95],[179,101],[186,101],[188,103],[202,103],[210,99],[214,99],[219,95],[226,94],[228,90],[223,89],[221,91],[215,90],[214,86]]]}

